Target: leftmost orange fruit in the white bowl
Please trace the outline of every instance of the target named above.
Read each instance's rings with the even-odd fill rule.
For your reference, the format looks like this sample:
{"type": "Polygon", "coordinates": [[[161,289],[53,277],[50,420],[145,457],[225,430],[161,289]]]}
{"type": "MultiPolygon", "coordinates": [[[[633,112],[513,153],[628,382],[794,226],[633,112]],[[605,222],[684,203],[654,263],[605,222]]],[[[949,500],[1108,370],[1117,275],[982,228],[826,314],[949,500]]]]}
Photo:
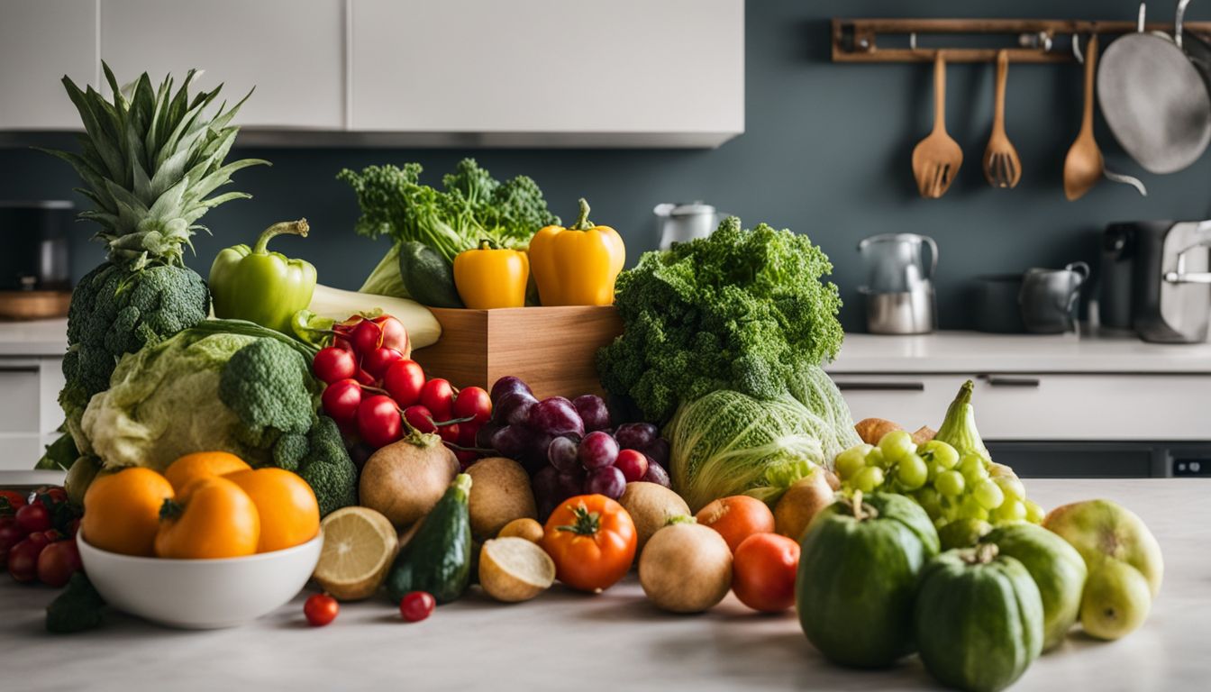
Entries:
{"type": "Polygon", "coordinates": [[[160,508],[172,499],[172,485],[151,469],[130,468],[97,476],[84,494],[80,531],[96,548],[150,557],[160,508]]]}

